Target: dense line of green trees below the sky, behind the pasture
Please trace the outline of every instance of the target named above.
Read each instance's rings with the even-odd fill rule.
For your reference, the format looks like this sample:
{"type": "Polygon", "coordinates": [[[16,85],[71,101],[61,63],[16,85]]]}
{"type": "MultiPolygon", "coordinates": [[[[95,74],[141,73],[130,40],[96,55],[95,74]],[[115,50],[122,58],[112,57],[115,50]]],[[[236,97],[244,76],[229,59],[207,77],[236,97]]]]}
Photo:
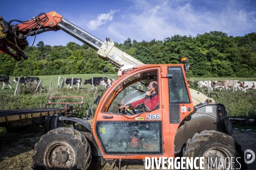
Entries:
{"type": "MultiPolygon", "coordinates": [[[[180,59],[187,57],[190,77],[256,77],[255,32],[233,37],[210,31],[196,37],[175,35],[149,42],[128,38],[115,45],[145,64],[180,64],[180,59]]],[[[28,59],[15,66],[17,62],[12,57],[1,53],[0,75],[96,74],[102,73],[105,66],[113,66],[100,59],[92,48],[75,42],[50,46],[40,41],[26,55],[28,59]]]]}

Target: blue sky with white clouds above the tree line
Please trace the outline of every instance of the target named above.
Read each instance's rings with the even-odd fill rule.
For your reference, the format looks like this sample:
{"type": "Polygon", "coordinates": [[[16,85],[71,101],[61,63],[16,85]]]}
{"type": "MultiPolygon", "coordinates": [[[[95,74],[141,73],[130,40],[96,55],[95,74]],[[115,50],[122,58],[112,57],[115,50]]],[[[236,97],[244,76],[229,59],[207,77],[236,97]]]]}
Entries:
{"type": "MultiPolygon", "coordinates": [[[[10,0],[0,15],[9,20],[26,21],[41,12],[56,11],[64,19],[100,40],[109,37],[122,43],[131,40],[163,40],[175,34],[204,34],[223,31],[244,36],[256,31],[256,0],[10,0]]],[[[12,23],[14,24],[14,23],[12,23]]],[[[27,40],[32,45],[34,37],[27,40]]],[[[67,45],[73,41],[64,31],[39,34],[35,44],[67,45]]]]}

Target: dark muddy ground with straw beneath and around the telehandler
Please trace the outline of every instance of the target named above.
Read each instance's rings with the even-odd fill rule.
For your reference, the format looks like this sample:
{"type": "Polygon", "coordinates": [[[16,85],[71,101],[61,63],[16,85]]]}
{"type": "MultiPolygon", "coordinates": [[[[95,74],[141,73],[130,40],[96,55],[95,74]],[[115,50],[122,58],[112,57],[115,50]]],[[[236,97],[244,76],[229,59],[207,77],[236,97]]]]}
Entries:
{"type": "MultiPolygon", "coordinates": [[[[0,170],[32,170],[32,153],[34,145],[44,135],[43,128],[28,127],[22,133],[0,134],[0,170]]],[[[243,150],[250,149],[256,153],[256,131],[234,130],[233,138],[238,141],[243,150]]],[[[101,166],[100,162],[92,162],[89,170],[118,170],[118,161],[101,166]]],[[[122,161],[121,169],[143,170],[143,161],[122,161]]],[[[248,170],[256,170],[256,160],[248,164],[248,170]]]]}

